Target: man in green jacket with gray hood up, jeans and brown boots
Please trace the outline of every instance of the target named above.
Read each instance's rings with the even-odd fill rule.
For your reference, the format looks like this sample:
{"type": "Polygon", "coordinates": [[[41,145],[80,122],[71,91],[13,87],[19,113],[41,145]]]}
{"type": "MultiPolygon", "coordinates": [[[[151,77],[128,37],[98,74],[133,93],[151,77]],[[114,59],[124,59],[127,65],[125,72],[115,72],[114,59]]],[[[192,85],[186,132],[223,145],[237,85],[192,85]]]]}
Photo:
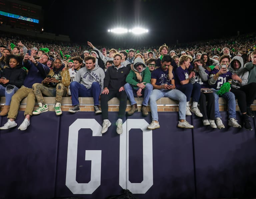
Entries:
{"type": "Polygon", "coordinates": [[[128,115],[132,115],[134,112],[138,111],[137,103],[134,97],[141,97],[143,96],[142,108],[141,112],[142,115],[147,116],[147,106],[150,94],[153,90],[152,84],[150,84],[151,73],[149,68],[144,64],[142,58],[137,57],[134,60],[133,64],[134,71],[138,72],[141,77],[142,81],[137,79],[136,73],[133,70],[130,70],[129,74],[126,77],[126,84],[124,85],[125,92],[131,102],[132,108],[127,112],[128,115]]]}

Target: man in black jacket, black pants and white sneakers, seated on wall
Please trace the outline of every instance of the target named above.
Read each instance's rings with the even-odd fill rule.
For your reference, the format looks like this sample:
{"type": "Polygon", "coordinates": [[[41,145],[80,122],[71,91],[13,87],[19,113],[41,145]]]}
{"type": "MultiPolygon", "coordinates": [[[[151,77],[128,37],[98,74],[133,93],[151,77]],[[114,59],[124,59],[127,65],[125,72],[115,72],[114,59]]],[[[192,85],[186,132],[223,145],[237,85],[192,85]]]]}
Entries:
{"type": "Polygon", "coordinates": [[[129,74],[131,68],[130,65],[123,66],[121,59],[121,54],[115,54],[114,65],[109,66],[105,72],[104,89],[100,97],[103,119],[101,133],[105,133],[111,125],[111,122],[108,120],[108,101],[113,97],[117,97],[120,101],[116,132],[118,134],[123,133],[123,117],[127,105],[127,94],[124,91],[124,85],[126,84],[126,76],[129,74]]]}

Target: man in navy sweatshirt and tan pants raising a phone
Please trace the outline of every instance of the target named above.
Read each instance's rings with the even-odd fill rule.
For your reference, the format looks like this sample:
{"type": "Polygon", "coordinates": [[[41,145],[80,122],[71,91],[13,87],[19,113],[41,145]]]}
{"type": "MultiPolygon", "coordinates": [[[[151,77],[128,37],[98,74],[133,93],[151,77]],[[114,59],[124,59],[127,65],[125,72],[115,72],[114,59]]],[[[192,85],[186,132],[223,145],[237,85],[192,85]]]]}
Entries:
{"type": "Polygon", "coordinates": [[[28,53],[25,54],[22,65],[28,69],[28,74],[24,80],[23,86],[17,90],[17,92],[12,96],[12,101],[10,104],[10,111],[8,113],[8,121],[4,126],[0,127],[1,130],[10,129],[17,126],[14,121],[18,115],[18,110],[21,100],[27,97],[27,106],[25,108],[25,119],[19,126],[19,130],[26,130],[30,125],[29,119],[34,110],[36,97],[32,90],[32,85],[34,83],[41,83],[46,75],[49,73],[50,68],[47,66],[47,61],[49,56],[43,53],[39,59],[39,62],[35,61],[33,56],[28,53]]]}

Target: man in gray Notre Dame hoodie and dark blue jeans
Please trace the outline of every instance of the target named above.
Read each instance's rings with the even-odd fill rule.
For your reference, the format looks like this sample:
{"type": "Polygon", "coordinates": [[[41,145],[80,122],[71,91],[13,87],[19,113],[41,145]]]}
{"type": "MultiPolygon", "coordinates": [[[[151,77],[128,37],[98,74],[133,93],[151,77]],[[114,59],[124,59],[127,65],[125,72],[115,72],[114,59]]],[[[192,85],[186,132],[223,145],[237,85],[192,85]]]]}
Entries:
{"type": "Polygon", "coordinates": [[[68,110],[71,113],[80,111],[78,97],[93,97],[94,111],[100,114],[99,97],[103,91],[103,80],[105,72],[96,64],[94,56],[84,58],[85,66],[77,71],[74,81],[70,83],[70,92],[72,96],[72,105],[74,108],[68,110]]]}

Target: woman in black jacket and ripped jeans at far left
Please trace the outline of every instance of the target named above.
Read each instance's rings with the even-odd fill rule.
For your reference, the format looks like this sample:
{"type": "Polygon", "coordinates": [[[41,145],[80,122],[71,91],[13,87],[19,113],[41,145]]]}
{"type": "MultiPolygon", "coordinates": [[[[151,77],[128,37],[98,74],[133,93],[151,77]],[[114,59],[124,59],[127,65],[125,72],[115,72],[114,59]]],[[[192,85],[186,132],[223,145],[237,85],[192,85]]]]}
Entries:
{"type": "Polygon", "coordinates": [[[7,55],[5,62],[8,64],[3,69],[0,79],[0,96],[5,96],[5,105],[0,116],[7,115],[10,109],[11,98],[14,93],[23,85],[27,72],[22,69],[23,56],[7,55]]]}

